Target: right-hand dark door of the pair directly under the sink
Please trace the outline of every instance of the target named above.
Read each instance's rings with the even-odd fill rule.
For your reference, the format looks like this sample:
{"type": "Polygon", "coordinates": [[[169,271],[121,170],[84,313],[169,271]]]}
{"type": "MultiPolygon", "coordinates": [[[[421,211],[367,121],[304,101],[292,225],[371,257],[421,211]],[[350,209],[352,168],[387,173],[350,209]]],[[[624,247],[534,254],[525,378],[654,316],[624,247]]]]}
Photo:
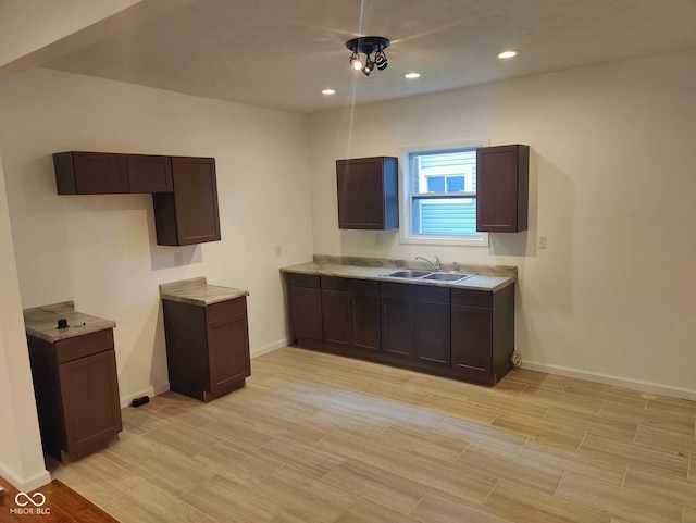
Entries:
{"type": "Polygon", "coordinates": [[[450,366],[449,303],[417,301],[414,309],[414,357],[428,366],[450,366]]]}

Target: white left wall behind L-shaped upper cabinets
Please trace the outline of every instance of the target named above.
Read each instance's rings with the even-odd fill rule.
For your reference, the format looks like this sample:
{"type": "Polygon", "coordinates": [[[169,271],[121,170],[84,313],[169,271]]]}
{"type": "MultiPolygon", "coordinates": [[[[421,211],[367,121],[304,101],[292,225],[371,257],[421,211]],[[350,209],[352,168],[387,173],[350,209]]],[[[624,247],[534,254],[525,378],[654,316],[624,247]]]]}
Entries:
{"type": "Polygon", "coordinates": [[[248,289],[252,354],[286,343],[278,267],[312,253],[307,116],[33,70],[0,83],[0,121],[22,307],[114,320],[123,403],[167,387],[160,283],[248,289]],[[214,157],[222,241],[157,246],[149,195],[58,196],[69,150],[214,157]]]}

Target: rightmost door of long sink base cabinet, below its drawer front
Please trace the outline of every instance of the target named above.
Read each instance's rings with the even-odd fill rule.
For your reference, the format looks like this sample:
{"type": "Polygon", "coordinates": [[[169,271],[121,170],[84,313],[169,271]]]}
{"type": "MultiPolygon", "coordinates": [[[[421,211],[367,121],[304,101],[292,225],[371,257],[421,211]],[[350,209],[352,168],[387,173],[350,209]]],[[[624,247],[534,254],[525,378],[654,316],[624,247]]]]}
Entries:
{"type": "Polygon", "coordinates": [[[493,311],[457,304],[451,311],[452,369],[467,379],[489,383],[493,373],[493,311]]]}

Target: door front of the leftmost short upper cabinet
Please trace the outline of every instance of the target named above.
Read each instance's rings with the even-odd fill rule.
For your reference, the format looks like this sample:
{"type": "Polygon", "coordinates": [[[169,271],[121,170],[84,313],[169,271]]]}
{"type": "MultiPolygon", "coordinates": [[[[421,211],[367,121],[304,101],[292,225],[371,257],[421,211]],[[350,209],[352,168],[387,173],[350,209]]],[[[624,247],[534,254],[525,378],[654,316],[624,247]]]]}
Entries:
{"type": "Polygon", "coordinates": [[[128,192],[125,154],[73,152],[73,162],[78,195],[128,192]]]}

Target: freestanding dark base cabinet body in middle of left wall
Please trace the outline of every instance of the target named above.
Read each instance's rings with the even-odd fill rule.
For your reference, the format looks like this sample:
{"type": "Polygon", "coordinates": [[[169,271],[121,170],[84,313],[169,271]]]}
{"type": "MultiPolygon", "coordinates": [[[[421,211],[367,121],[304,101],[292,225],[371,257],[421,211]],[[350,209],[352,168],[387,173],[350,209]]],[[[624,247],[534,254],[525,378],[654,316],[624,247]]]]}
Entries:
{"type": "Polygon", "coordinates": [[[162,300],[170,389],[211,401],[251,375],[245,296],[208,306],[162,300]]]}

